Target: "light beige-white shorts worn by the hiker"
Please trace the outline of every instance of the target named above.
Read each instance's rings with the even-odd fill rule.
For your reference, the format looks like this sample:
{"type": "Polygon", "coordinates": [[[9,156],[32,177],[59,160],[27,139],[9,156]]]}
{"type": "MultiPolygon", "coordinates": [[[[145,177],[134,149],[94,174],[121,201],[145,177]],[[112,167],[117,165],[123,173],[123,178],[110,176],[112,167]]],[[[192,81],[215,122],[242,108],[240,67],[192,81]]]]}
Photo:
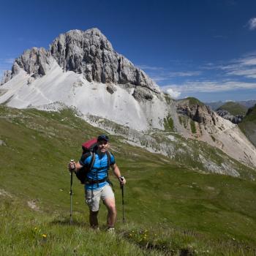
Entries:
{"type": "Polygon", "coordinates": [[[98,190],[86,190],[86,203],[91,211],[99,211],[100,200],[104,202],[106,198],[115,198],[113,190],[109,184],[98,190]]]}

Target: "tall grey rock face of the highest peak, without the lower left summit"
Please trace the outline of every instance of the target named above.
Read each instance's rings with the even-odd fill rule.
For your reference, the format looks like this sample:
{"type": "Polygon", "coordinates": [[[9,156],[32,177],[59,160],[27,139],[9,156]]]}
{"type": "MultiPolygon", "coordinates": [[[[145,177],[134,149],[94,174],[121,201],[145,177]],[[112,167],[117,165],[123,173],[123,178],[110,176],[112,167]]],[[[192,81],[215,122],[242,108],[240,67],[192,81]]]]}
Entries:
{"type": "Polygon", "coordinates": [[[50,45],[50,54],[64,71],[82,73],[90,82],[129,83],[159,93],[154,81],[116,53],[99,29],[61,34],[50,45]]]}

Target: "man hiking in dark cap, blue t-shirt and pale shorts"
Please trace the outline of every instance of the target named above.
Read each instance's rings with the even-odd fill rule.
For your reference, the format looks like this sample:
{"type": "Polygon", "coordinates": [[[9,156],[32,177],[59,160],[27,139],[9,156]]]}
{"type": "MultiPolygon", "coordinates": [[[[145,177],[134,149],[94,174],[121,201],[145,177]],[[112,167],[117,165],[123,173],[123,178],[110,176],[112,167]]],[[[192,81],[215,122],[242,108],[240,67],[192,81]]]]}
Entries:
{"type": "MultiPolygon", "coordinates": [[[[120,182],[121,186],[124,186],[126,180],[124,176],[121,176],[120,170],[116,165],[113,154],[108,153],[110,147],[109,138],[107,135],[99,135],[97,138],[97,151],[95,152],[94,165],[91,166],[91,170],[87,173],[86,177],[86,203],[90,209],[89,221],[93,228],[98,227],[97,215],[99,212],[100,199],[108,208],[107,224],[108,230],[114,230],[116,222],[116,202],[112,188],[108,181],[108,162],[113,170],[116,178],[120,182]],[[108,159],[108,156],[110,159],[108,159]]],[[[91,162],[91,154],[88,156],[83,154],[79,162],[69,162],[69,171],[78,172],[82,167],[89,167],[91,162]]]]}

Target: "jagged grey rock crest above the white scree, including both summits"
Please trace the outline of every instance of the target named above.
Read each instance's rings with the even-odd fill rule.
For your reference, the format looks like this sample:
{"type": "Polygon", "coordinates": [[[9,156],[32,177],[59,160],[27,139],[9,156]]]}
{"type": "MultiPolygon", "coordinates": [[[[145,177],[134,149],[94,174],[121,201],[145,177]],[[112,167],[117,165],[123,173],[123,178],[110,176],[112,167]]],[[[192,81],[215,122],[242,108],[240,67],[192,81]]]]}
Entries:
{"type": "Polygon", "coordinates": [[[131,61],[116,53],[107,37],[97,28],[81,31],[78,29],[60,34],[53,40],[50,50],[31,48],[26,50],[6,73],[1,83],[6,83],[17,75],[20,68],[32,77],[46,74],[51,59],[55,59],[64,70],[83,74],[89,82],[123,85],[133,88],[133,97],[140,100],[153,99],[153,93],[160,90],[143,70],[131,61]]]}

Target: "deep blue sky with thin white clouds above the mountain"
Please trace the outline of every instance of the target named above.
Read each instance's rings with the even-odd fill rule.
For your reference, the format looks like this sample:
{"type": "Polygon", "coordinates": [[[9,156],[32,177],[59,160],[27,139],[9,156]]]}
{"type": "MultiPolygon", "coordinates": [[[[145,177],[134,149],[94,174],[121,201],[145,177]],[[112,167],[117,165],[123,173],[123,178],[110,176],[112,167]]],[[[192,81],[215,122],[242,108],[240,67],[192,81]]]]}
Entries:
{"type": "Polygon", "coordinates": [[[97,27],[175,98],[256,99],[256,1],[1,1],[0,75],[31,47],[97,27]]]}

